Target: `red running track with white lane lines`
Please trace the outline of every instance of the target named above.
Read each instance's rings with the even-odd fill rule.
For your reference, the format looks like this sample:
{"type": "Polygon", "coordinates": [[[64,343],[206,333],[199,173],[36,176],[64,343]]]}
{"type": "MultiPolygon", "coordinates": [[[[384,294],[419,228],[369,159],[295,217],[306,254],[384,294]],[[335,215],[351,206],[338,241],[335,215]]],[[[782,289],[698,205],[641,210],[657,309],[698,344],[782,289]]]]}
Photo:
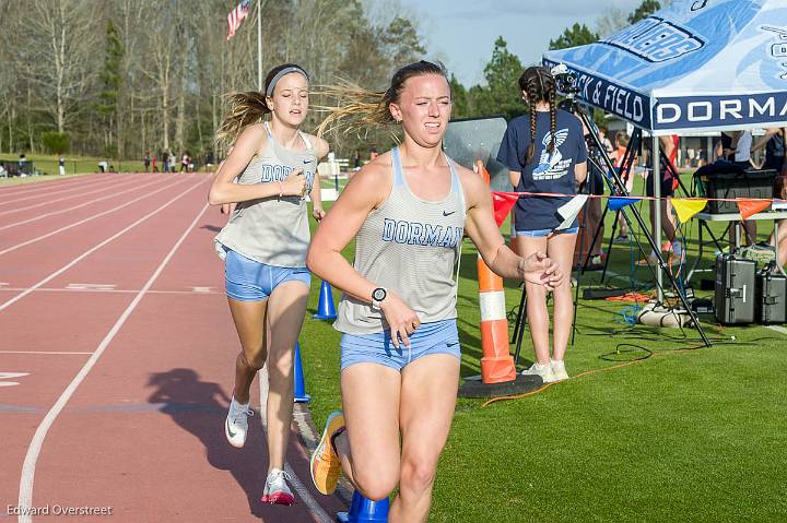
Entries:
{"type": "Polygon", "coordinates": [[[20,508],[111,510],[57,521],[295,523],[344,509],[312,486],[295,433],[296,504],[259,501],[256,389],[246,448],[224,439],[238,342],[209,183],[94,175],[0,189],[0,522],[48,519],[20,508]]]}

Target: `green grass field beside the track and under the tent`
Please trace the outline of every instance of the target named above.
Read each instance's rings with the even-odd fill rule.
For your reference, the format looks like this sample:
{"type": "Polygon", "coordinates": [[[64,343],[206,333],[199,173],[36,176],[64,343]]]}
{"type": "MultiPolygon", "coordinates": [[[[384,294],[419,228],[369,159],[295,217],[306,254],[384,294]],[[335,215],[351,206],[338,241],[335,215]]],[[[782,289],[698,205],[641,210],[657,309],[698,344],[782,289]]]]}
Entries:
{"type": "MultiPolygon", "coordinates": [[[[647,219],[647,205],[643,214],[647,219]]],[[[690,224],[688,237],[695,238],[696,229],[690,224]]],[[[761,239],[770,231],[770,223],[760,224],[761,239]]],[[[690,260],[695,253],[690,240],[690,260]]],[[[462,376],[480,369],[475,255],[466,240],[458,302],[462,376]]],[[[612,283],[627,284],[631,260],[627,245],[614,246],[610,268],[624,277],[612,283]]],[[[706,265],[712,260],[713,249],[706,250],[706,265]]],[[[643,268],[634,278],[651,281],[643,268]]],[[[598,280],[598,272],[588,273],[580,283],[598,280]]],[[[339,333],[330,322],[312,319],[319,285],[315,278],[301,346],[314,419],[321,428],[339,408],[340,395],[339,333]]],[[[509,310],[519,296],[516,282],[507,281],[509,310]]],[[[695,330],[622,323],[626,306],[579,300],[576,343],[566,362],[572,376],[588,375],[489,406],[459,400],[430,521],[787,520],[785,331],[723,328],[703,317],[714,342],[703,348],[695,330]],[[651,352],[649,358],[621,366],[643,357],[644,349],[651,352]]],[[[528,333],[522,358],[520,366],[531,362],[528,333]]]]}

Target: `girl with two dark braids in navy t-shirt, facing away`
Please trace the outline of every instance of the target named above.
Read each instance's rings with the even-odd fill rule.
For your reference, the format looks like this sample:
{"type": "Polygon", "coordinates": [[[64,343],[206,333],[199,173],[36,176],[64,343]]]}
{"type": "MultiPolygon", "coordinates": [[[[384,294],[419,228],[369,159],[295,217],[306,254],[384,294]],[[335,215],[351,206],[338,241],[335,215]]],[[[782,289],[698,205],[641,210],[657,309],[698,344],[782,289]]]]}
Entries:
{"type": "MultiPolygon", "coordinates": [[[[512,185],[518,192],[576,194],[576,183],[587,176],[587,148],[582,122],[556,107],[555,82],[549,70],[532,67],[519,78],[522,99],[530,115],[508,123],[497,161],[508,166],[512,185]]],[[[564,273],[571,273],[576,219],[559,229],[563,218],[557,210],[572,199],[566,197],[521,197],[514,211],[516,249],[519,255],[547,251],[564,273]]],[[[544,382],[568,378],[563,361],[574,317],[571,282],[553,290],[554,336],[549,346],[547,293],[525,283],[527,314],[536,350],[536,362],[522,373],[539,375],[544,382]]]]}

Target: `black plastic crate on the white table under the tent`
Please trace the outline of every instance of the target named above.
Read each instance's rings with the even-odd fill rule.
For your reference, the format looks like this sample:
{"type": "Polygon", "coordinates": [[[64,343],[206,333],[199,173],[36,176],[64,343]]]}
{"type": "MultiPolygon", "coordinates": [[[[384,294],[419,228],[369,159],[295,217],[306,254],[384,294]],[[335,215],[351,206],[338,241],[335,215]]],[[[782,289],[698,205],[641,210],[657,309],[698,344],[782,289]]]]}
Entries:
{"type": "MultiPolygon", "coordinates": [[[[707,198],[773,198],[775,170],[716,173],[707,177],[707,198]]],[[[771,207],[763,210],[768,211],[771,207]]],[[[737,213],[736,202],[708,202],[712,214],[737,213]]]]}

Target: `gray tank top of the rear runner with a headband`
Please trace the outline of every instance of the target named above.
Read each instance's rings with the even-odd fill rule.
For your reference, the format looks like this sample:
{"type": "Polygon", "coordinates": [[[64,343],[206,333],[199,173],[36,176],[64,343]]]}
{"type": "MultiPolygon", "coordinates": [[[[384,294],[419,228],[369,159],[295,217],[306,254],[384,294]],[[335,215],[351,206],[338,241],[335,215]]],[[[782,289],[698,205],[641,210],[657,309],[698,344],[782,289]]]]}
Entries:
{"type": "MultiPolygon", "coordinates": [[[[303,167],[308,193],[317,170],[317,154],[310,141],[298,131],[306,151],[291,151],[273,140],[268,122],[265,128],[268,132],[265,152],[249,162],[237,183],[279,183],[294,169],[303,167]]],[[[275,195],[238,203],[215,242],[222,259],[226,247],[268,265],[303,268],[309,237],[306,200],[275,195]]]]}

